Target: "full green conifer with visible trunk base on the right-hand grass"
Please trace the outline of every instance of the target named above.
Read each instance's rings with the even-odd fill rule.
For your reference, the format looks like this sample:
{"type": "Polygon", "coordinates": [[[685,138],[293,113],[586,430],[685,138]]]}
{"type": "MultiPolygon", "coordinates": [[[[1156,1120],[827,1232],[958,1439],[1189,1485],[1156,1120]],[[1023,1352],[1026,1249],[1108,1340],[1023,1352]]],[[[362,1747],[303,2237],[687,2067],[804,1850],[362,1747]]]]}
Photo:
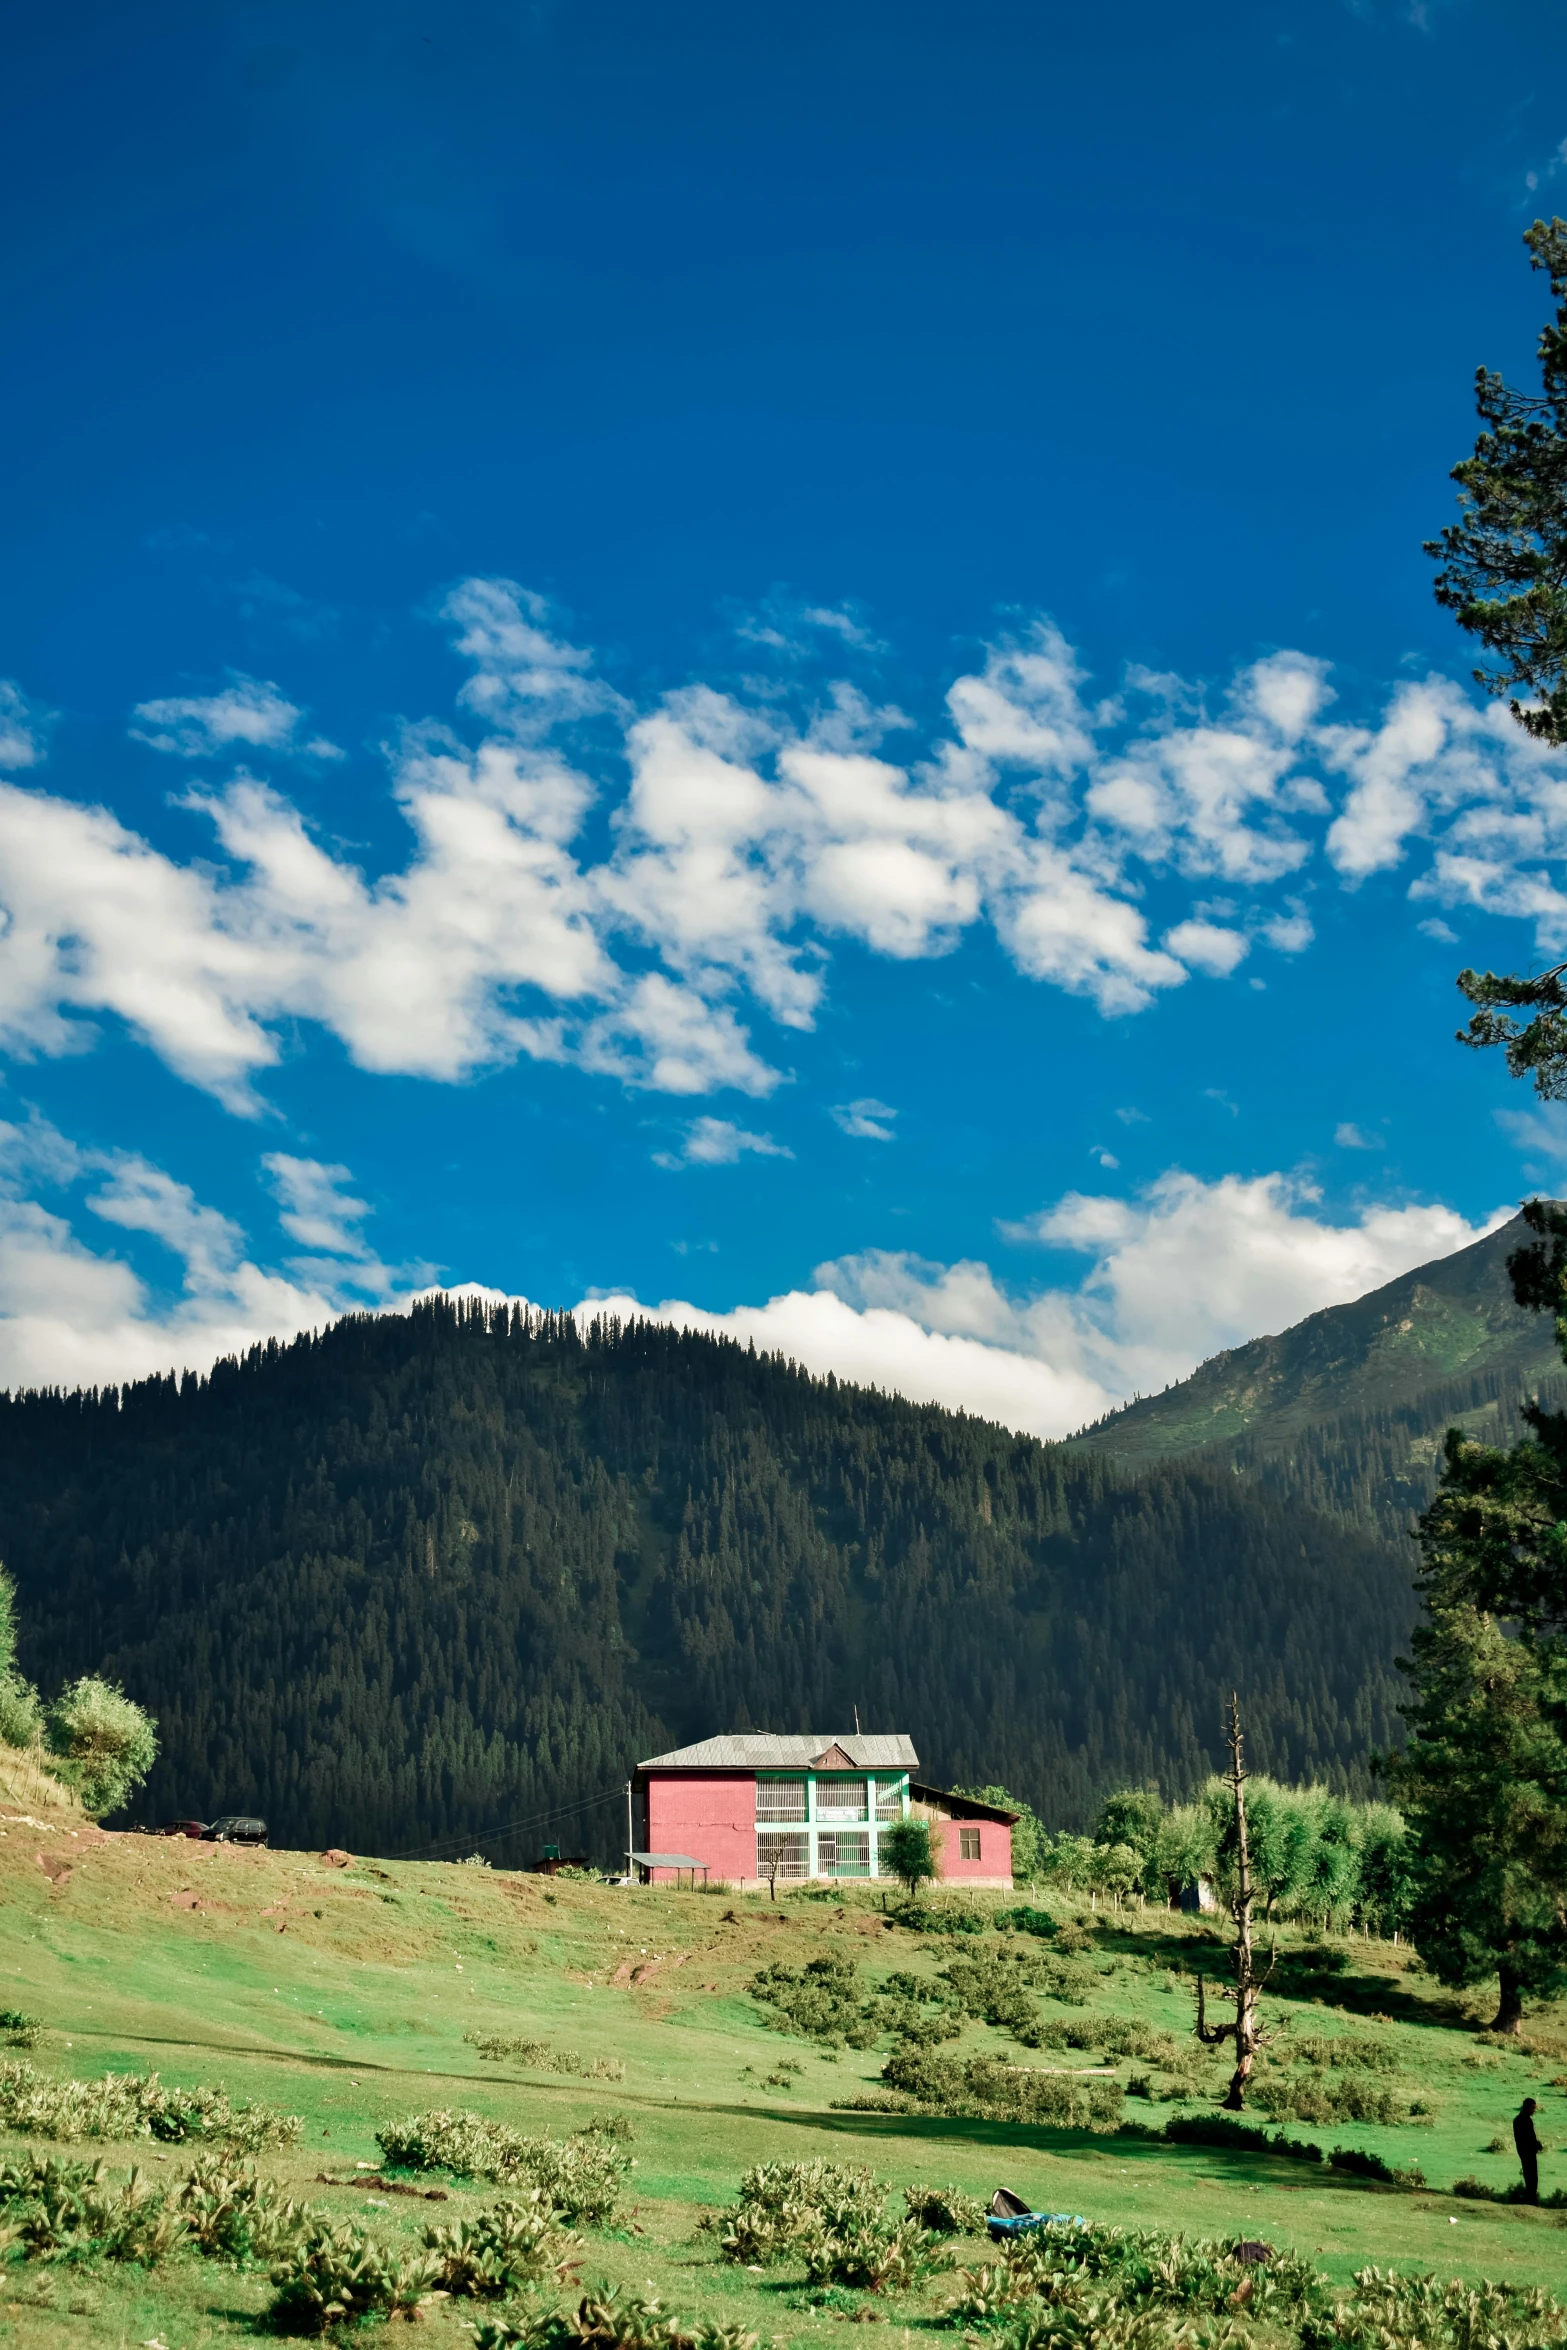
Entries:
{"type": "Polygon", "coordinates": [[[1508,1638],[1461,1570],[1438,1551],[1391,1777],[1414,1833],[1419,1953],[1445,1983],[1497,1976],[1492,2030],[1515,2033],[1527,1993],[1567,1988],[1567,1650],[1508,1638]]]}

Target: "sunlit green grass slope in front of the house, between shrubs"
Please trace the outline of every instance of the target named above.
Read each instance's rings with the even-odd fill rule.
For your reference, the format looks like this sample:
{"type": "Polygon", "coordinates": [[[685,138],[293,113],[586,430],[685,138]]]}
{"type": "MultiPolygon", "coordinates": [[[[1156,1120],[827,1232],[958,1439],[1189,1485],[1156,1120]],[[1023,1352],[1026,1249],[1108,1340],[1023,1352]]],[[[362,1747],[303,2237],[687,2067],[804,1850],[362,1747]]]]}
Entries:
{"type": "MultiPolygon", "coordinates": [[[[937,1894],[937,1899],[942,1899],[937,1894]]],[[[975,1899],[975,1896],[970,1896],[975,1899]]],[[[998,1904],[998,1896],[977,1896],[998,1904]]],[[[1203,1955],[1196,1920],[1144,1913],[1090,1920],[1088,2005],[1076,2019],[1121,2016],[1175,2035],[1191,2028],[1189,1969],[1203,1955]]],[[[989,1936],[987,1936],[989,1941],[989,1936]]],[[[1374,2030],[1393,2044],[1398,2080],[1431,2108],[1391,2127],[1287,2122],[1325,2148],[1363,2146],[1419,2164],[1426,2190],[1358,2183],[1327,2167],[1182,2148],[1128,2134],[1020,2129],[996,2122],[834,2110],[879,2089],[881,2049],[822,2049],[780,2037],[747,1993],[759,1965],[822,1950],[860,1962],[867,1988],[890,1969],[935,1974],[959,1939],[888,1922],[872,1887],[843,1899],[620,1889],[493,1875],[444,1864],[240,1852],[101,1835],[80,1814],[0,1810],[0,2007],[38,2016],[28,2059],[54,2075],[155,2068],[169,2084],[223,2082],[305,2120],[303,2143],[263,2169],[334,2214],[355,2214],[388,2240],[418,2244],[432,2216],[493,2202],[493,2188],[423,2178],[444,2207],[320,2183],[376,2164],[376,2129],[430,2106],[470,2108],[517,2129],[561,2136],[594,2113],[634,2127],[623,2225],[590,2235],[583,2282],[651,2287],[681,2317],[742,2322],[764,2341],[836,2338],[843,2310],[806,2305],[799,2270],[747,2272],[695,2235],[705,2204],[733,2200],[740,2171],[764,2160],[832,2155],[865,2162],[890,2186],[933,2181],[989,2197],[1010,2186],[1034,2207],[1090,2221],[1191,2235],[1259,2235],[1346,2280],[1365,2263],[1459,2277],[1508,2277],[1567,2298],[1567,2214],[1459,2202],[1459,2176],[1506,2186],[1508,2138],[1525,2094],[1541,2101],[1548,2153],[1541,2183],[1567,2186],[1567,2019],[1532,2019],[1525,2049],[1485,2044],[1475,2002],[1464,2014],[1386,1943],[1327,1946],[1334,1976],[1299,1974],[1294,1998],[1266,2007],[1292,2035],[1374,2030]],[[1330,1993],[1309,1995],[1327,1981],[1330,1993]],[[498,2033],[608,2059],[625,2077],[561,2077],[482,2061],[468,2033],[498,2033]],[[1555,2049],[1560,2047],[1560,2054],[1555,2049]],[[799,2066],[771,2084],[780,2059],[799,2066]]],[[[973,1948],[973,1936],[963,1936],[973,1948]]],[[[1323,1950],[1306,1953],[1323,1958],[1323,1950]]],[[[1048,2012],[1050,2000],[1041,2000],[1048,2012]]],[[[966,2026],[956,2054],[989,2049],[1015,2063],[1095,2068],[1095,2052],[1027,2052],[1006,2033],[966,2026]]],[[[1149,2066],[1121,2063],[1123,2077],[1149,2066]]],[[[1210,2092],[1222,2073],[1210,2066],[1210,2092]]],[[[1156,2082],[1158,2087],[1158,2082],[1156,2082]]],[[[1128,2099],[1149,2127],[1175,2110],[1128,2099]]],[[[0,2155],[21,2141],[0,2138],[0,2155]]],[[[68,2148],[96,2153],[99,2148],[68,2148]]],[[[181,2146],[101,2148],[120,2174],[155,2178],[188,2167],[181,2146]]],[[[959,2261],[982,2258],[959,2244],[959,2261]]],[[[951,2289],[940,2280],[876,2315],[904,2334],[930,2331],[951,2289]]],[[[197,2343],[256,2338],[263,2272],[176,2258],[155,2272],[45,2265],[14,2254],[0,2277],[0,2341],[19,2345],[197,2343]]],[[[430,2338],[470,2341],[472,2303],[439,2305],[430,2338]]],[[[947,2331],[956,2343],[961,2336],[947,2331]]]]}

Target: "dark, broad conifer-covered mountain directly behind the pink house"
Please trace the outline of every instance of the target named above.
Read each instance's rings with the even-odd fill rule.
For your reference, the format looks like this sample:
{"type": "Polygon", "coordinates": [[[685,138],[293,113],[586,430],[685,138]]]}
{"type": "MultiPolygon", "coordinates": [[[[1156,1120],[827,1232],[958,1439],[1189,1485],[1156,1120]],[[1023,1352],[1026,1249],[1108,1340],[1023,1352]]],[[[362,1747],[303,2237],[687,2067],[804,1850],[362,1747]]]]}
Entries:
{"type": "Polygon", "coordinates": [[[1231,1687],[1259,1767],[1365,1788],[1414,1563],[1229,1464],[1130,1476],[731,1342],[449,1302],[0,1398],[0,1551],[26,1671],[160,1718],[143,1817],[496,1859],[608,1856],[639,1755],[855,1704],[1057,1824],[1208,1772],[1231,1687]]]}

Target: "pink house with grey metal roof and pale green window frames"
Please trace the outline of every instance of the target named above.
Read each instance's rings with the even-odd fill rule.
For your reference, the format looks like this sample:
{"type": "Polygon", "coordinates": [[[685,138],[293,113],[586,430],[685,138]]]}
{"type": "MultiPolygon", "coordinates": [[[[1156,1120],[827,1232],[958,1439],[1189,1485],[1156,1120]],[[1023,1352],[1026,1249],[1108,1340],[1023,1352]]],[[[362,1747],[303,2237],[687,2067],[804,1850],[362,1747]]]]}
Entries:
{"type": "MultiPolygon", "coordinates": [[[[916,1772],[907,1737],[740,1730],[677,1746],[637,1767],[634,1849],[731,1885],[759,1885],[771,1861],[780,1880],[879,1878],[881,1833],[926,1819],[947,1882],[1010,1887],[1017,1814],[926,1786],[916,1772]]],[[[644,1873],[674,1878],[672,1866],[644,1873]]]]}

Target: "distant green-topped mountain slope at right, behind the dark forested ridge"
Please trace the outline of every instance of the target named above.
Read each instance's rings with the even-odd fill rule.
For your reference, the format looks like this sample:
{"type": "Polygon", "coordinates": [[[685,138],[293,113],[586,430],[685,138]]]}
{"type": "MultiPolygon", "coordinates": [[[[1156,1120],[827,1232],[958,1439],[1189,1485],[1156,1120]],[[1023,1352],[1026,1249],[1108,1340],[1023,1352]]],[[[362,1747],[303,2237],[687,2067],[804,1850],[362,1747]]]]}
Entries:
{"type": "Polygon", "coordinates": [[[1128,1469],[1210,1462],[1398,1539],[1431,1499],[1445,1429],[1511,1443],[1527,1396],[1567,1401],[1551,1318],[1525,1314],[1508,1285],[1527,1238],[1513,1217],[1353,1304],[1231,1347],[1074,1450],[1128,1469]]]}

